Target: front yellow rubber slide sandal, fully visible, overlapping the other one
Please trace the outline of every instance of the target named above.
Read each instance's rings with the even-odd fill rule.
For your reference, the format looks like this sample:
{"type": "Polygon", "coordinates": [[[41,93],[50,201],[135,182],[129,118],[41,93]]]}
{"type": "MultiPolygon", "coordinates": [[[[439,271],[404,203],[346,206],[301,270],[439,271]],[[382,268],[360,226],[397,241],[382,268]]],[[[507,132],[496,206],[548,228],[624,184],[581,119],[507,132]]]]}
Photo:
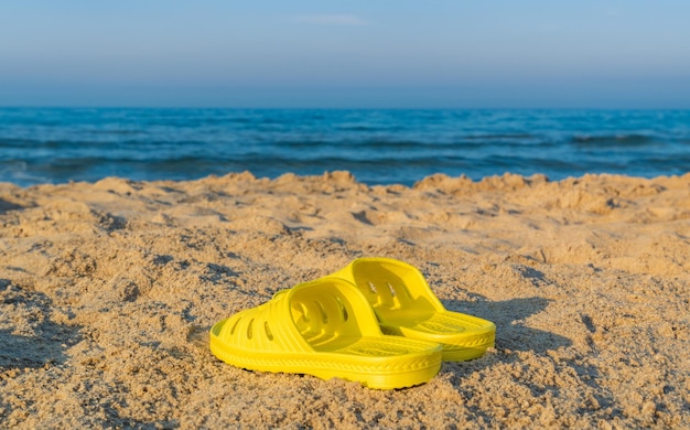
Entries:
{"type": "Polygon", "coordinates": [[[341,279],[283,290],[211,329],[211,351],[236,367],[410,387],[441,368],[441,346],[381,333],[367,299],[341,279]]]}

